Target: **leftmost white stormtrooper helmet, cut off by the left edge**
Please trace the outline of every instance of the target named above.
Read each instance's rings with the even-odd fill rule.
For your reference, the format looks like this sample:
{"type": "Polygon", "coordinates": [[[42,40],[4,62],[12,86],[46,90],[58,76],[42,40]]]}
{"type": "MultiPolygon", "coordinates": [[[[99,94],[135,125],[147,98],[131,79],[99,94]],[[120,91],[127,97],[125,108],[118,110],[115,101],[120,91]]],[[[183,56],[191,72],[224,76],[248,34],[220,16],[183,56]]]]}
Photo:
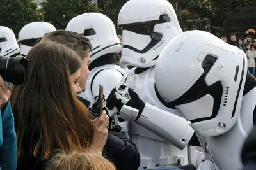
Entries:
{"type": "Polygon", "coordinates": [[[0,26],[0,56],[10,57],[20,52],[15,34],[8,27],[0,26]]]}

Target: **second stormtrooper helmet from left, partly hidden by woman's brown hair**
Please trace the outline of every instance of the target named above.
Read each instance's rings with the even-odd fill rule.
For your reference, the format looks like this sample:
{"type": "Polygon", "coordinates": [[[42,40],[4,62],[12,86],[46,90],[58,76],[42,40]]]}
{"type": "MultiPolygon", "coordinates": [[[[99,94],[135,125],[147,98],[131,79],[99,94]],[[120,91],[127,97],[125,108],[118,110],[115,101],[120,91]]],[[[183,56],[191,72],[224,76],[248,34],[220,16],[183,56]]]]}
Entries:
{"type": "Polygon", "coordinates": [[[29,50],[38,43],[45,34],[56,31],[56,28],[48,22],[31,22],[19,32],[20,54],[26,56],[29,50]]]}

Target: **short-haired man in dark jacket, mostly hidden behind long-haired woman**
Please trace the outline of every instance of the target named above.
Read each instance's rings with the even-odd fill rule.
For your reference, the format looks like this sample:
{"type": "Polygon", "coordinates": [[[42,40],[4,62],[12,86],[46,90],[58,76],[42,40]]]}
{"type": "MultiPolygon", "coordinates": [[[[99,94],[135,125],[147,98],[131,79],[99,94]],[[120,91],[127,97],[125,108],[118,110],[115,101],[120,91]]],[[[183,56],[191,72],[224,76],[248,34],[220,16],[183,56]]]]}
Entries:
{"type": "MultiPolygon", "coordinates": [[[[42,41],[49,40],[71,48],[79,54],[82,60],[84,53],[88,50],[86,45],[90,43],[88,38],[83,34],[64,30],[53,31],[47,34],[42,41]]],[[[84,67],[85,70],[88,70],[88,63],[82,63],[82,67],[84,67]]],[[[84,69],[81,69],[81,81],[79,84],[81,89],[85,90],[83,88],[84,85],[86,85],[87,77],[83,76],[84,73],[82,73],[82,70],[84,69]],[[83,82],[83,85],[81,85],[81,82],[83,82]]],[[[88,108],[91,113],[91,118],[98,116],[97,111],[89,107],[90,101],[87,101],[83,97],[77,97],[88,108]]],[[[109,131],[102,155],[105,155],[107,159],[113,162],[118,170],[136,170],[140,166],[140,153],[138,152],[136,145],[127,139],[118,128],[114,129],[114,131],[109,131]]]]}

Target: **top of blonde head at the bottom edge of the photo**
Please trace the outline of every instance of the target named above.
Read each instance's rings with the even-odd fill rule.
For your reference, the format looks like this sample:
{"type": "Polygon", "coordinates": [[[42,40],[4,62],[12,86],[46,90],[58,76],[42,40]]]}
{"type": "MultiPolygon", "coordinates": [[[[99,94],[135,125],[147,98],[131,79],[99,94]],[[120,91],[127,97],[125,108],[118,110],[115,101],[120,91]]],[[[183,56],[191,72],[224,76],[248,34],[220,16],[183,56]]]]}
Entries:
{"type": "Polygon", "coordinates": [[[45,164],[45,170],[116,170],[108,159],[86,150],[57,150],[45,164]]]}

